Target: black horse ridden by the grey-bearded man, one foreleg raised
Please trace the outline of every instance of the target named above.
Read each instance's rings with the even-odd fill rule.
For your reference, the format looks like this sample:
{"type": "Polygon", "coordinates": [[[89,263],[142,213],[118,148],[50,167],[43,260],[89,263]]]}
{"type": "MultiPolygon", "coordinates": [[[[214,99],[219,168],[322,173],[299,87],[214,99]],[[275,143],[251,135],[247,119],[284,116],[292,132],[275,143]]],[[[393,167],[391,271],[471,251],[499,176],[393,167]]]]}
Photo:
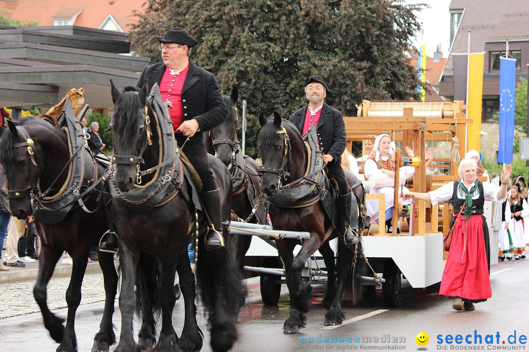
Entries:
{"type": "MultiPolygon", "coordinates": [[[[281,119],[277,112],[274,112],[274,119],[269,121],[261,115],[260,122],[262,128],[258,146],[263,164],[261,189],[263,194],[268,197],[278,191],[278,174],[280,180],[285,184],[304,177],[307,170],[308,152],[297,128],[289,121],[281,119]],[[267,170],[274,171],[267,172],[267,170]],[[289,176],[287,176],[288,173],[289,176]]],[[[352,174],[349,175],[352,176],[352,174]]],[[[352,177],[354,178],[354,176],[352,177]]],[[[348,177],[350,185],[352,185],[352,181],[348,177]]],[[[354,187],[352,191],[359,198],[359,204],[363,204],[364,191],[362,185],[354,187]]],[[[286,319],[283,327],[285,334],[298,334],[299,328],[305,326],[305,313],[311,305],[312,288],[301,284],[301,271],[306,261],[316,250],[319,250],[323,255],[328,272],[327,291],[323,301],[328,309],[325,314],[325,325],[342,323],[344,319],[341,310],[342,291],[344,289],[354,290],[350,292],[354,303],[355,291],[358,290],[357,285],[361,270],[357,266],[363,264],[361,242],[351,251],[345,247],[342,241],[338,241],[338,268],[335,268],[334,253],[329,241],[338,235],[338,231],[334,230],[326,238],[325,235],[330,231],[332,225],[331,220],[326,215],[321,201],[311,203],[312,205],[304,207],[278,207],[269,204],[270,219],[275,229],[311,233],[310,238],[303,241],[302,249],[295,257],[293,250],[298,244],[297,241],[276,240],[279,255],[285,263],[286,281],[290,293],[290,316],[286,319]],[[338,281],[335,280],[336,269],[338,281]]],[[[359,217],[359,226],[361,223],[362,219],[359,217]]]]}

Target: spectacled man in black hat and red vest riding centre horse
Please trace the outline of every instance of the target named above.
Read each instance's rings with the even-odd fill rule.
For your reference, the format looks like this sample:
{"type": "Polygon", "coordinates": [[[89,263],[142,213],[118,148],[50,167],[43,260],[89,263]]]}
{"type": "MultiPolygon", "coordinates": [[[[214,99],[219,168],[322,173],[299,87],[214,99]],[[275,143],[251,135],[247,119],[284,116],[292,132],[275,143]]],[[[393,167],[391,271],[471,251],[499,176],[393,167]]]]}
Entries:
{"type": "MultiPolygon", "coordinates": [[[[224,246],[222,238],[221,194],[207,159],[202,131],[220,125],[227,116],[221,90],[213,73],[189,60],[191,48],[198,44],[179,27],[171,28],[159,40],[163,62],[148,66],[141,73],[136,87],[148,82],[149,91],[158,83],[162,101],[168,107],[178,146],[187,138],[184,153],[202,179],[200,198],[211,221],[205,236],[208,250],[224,246]]],[[[116,249],[115,237],[105,237],[101,247],[116,249]],[[111,240],[111,241],[107,241],[111,240]]]]}

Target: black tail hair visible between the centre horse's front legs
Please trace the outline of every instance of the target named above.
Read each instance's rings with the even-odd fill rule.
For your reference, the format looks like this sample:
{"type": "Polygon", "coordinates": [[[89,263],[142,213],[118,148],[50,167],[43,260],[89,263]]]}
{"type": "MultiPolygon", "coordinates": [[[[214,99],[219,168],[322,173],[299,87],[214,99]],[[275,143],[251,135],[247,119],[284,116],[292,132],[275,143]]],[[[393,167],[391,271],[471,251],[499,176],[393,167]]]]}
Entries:
{"type": "Polygon", "coordinates": [[[161,268],[156,257],[144,250],[140,253],[136,269],[136,315],[154,318],[154,334],[156,319],[161,316],[160,292],[161,268]]]}

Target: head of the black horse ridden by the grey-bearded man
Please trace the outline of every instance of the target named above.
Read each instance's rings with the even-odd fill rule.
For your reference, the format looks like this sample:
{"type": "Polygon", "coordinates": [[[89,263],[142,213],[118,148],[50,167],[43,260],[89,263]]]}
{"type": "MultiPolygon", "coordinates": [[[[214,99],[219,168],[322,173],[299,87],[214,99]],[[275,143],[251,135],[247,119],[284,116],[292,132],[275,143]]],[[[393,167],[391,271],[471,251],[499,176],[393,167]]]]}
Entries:
{"type": "Polygon", "coordinates": [[[259,116],[261,131],[258,148],[261,152],[261,189],[266,196],[272,196],[290,179],[298,179],[305,173],[307,151],[297,128],[281,119],[277,111],[274,118],[267,120],[263,113],[259,116]]]}

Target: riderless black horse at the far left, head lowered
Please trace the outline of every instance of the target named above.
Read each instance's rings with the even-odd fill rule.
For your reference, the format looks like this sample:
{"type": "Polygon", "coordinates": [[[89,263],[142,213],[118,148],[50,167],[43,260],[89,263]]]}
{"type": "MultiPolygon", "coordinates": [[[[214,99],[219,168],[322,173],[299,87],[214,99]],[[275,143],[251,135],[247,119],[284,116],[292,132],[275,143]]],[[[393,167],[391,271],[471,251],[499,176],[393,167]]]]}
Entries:
{"type": "MultiPolygon", "coordinates": [[[[11,213],[19,219],[25,219],[33,213],[33,206],[37,207],[34,204],[35,197],[41,197],[41,190],[52,186],[47,194],[48,199],[61,195],[61,186],[67,184],[69,177],[68,172],[61,170],[67,166],[72,148],[68,144],[65,131],[59,128],[52,117],[48,121],[26,117],[17,122],[8,121],[8,125],[8,130],[0,129],[0,163],[7,176],[11,213]]],[[[77,129],[82,131],[80,123],[77,129]]],[[[96,163],[85,148],[80,150],[80,153],[85,153],[84,167],[91,172],[90,181],[95,182],[105,173],[105,167],[96,163]]],[[[102,185],[98,185],[96,189],[101,192],[101,188],[102,185]]],[[[51,337],[60,343],[57,351],[77,350],[75,314],[81,301],[81,283],[85,275],[88,251],[97,246],[107,230],[105,209],[101,204],[98,205],[97,196],[87,195],[84,204],[89,210],[96,211],[87,213],[76,204],[59,223],[47,223],[39,219],[36,221],[42,250],[39,255],[39,275],[33,294],[41,309],[44,326],[50,331],[51,337]],[[46,303],[48,282],[65,250],[71,255],[74,263],[66,291],[66,328],[62,325],[63,319],[54,315],[46,303]]],[[[112,254],[100,252],[98,256],[104,275],[105,309],[92,351],[108,351],[109,346],[115,343],[112,315],[117,273],[112,254]]]]}

